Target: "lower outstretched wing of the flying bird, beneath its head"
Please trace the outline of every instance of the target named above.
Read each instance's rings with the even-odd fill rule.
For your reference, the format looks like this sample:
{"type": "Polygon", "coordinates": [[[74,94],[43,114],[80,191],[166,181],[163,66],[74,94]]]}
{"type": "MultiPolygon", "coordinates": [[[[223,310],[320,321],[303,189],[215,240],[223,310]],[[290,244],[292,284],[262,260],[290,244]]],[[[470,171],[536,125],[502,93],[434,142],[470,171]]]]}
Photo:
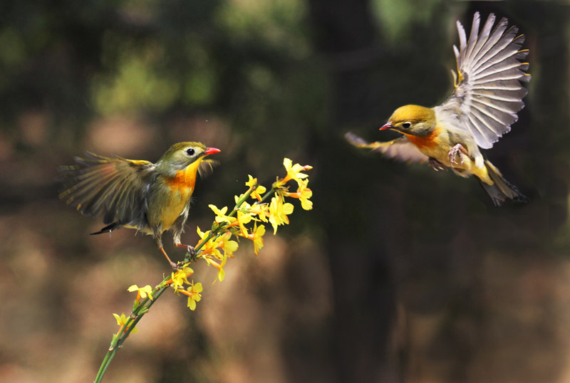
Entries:
{"type": "Polygon", "coordinates": [[[405,136],[386,142],[368,142],[352,132],[344,135],[346,140],[356,147],[367,147],[380,152],[386,157],[406,162],[426,162],[428,157],[420,152],[405,136]]]}

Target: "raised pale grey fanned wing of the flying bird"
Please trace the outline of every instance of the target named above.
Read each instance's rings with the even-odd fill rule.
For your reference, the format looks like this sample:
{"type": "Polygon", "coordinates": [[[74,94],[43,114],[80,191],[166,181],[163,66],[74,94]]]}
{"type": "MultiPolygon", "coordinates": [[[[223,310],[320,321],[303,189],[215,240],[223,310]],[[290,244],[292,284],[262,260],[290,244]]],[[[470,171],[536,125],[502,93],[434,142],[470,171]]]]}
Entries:
{"type": "Polygon", "coordinates": [[[457,60],[455,90],[440,108],[451,112],[475,138],[477,145],[489,149],[511,124],[518,120],[517,112],[524,107],[522,98],[527,90],[521,82],[530,80],[525,73],[528,50],[520,50],[524,35],[517,36],[517,27],[507,29],[507,19],[495,21],[490,14],[479,33],[480,15],[473,16],[469,41],[465,29],[457,21],[460,48],[453,46],[457,60]],[[458,77],[457,77],[458,76],[458,77]]]}

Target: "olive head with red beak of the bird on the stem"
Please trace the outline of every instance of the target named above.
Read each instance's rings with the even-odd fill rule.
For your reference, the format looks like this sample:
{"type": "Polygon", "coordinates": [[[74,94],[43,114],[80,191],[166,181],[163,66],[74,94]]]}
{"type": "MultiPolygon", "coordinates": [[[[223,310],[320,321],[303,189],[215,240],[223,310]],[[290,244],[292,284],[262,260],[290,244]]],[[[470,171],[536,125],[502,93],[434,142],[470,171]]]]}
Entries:
{"type": "Polygon", "coordinates": [[[156,165],[164,174],[173,175],[190,164],[194,164],[198,169],[198,165],[206,156],[219,152],[219,149],[206,147],[201,142],[178,142],[162,154],[156,165]]]}

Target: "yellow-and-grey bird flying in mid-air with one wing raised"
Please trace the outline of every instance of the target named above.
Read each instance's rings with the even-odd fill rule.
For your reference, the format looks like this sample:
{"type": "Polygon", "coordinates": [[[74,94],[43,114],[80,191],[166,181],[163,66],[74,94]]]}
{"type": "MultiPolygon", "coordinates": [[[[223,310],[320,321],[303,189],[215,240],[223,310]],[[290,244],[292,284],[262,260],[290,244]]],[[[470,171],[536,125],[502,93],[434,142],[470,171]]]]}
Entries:
{"type": "Polygon", "coordinates": [[[507,19],[493,28],[494,21],[494,14],[490,14],[479,33],[480,15],[475,13],[469,40],[457,21],[460,48],[453,46],[457,60],[457,74],[452,70],[455,90],[444,103],[396,109],[380,127],[402,134],[395,140],[368,143],[351,132],[346,139],[387,157],[429,162],[435,170],[450,167],[462,177],[475,175],[495,206],[507,199],[527,200],[480,152],[511,130],[527,95],[521,83],[530,80],[525,73],[529,64],[521,62],[528,54],[527,49],[520,49],[524,36],[517,36],[516,26],[507,28],[507,19]]]}

